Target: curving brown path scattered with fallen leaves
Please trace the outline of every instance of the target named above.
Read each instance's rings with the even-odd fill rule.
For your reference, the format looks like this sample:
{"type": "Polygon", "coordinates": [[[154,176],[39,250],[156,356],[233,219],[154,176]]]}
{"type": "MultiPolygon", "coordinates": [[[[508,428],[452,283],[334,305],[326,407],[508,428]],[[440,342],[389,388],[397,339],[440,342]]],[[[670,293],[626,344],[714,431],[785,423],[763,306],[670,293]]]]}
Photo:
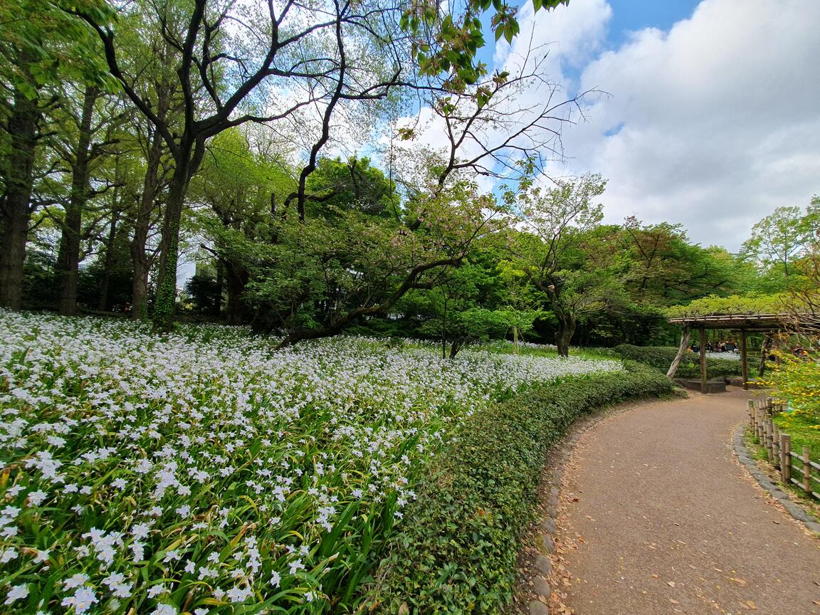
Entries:
{"type": "Polygon", "coordinates": [[[574,613],[820,615],[820,540],[731,452],[746,399],[640,404],[581,436],[558,517],[574,613]]]}

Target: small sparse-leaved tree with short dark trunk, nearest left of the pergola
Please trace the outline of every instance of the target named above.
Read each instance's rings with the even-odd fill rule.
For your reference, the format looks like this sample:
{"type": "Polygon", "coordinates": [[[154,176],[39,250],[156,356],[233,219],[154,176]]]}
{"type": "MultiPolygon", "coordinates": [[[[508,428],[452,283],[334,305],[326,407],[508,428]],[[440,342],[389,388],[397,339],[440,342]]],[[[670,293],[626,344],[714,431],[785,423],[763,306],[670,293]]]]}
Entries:
{"type": "Polygon", "coordinates": [[[604,193],[600,175],[559,180],[555,187],[519,194],[517,214],[526,232],[512,234],[512,252],[558,321],[555,343],[566,357],[578,317],[601,303],[601,271],[585,270],[583,242],[599,223],[604,193]]]}

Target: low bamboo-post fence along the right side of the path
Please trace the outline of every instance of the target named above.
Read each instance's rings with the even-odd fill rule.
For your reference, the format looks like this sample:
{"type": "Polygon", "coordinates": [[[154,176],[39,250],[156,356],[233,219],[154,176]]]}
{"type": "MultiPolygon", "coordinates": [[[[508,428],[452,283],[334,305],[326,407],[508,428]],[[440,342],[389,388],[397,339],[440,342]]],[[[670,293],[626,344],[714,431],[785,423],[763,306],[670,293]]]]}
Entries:
{"type": "Polygon", "coordinates": [[[769,397],[755,402],[749,399],[749,426],[757,436],[763,449],[766,449],[768,460],[780,469],[781,480],[786,485],[797,485],[807,495],[820,499],[820,478],[815,476],[820,471],[820,463],[809,458],[809,447],[801,452],[791,449],[791,436],[782,433],[772,421],[772,417],[782,412],[782,405],[774,403],[769,397]],[[815,470],[813,472],[812,470],[815,470]]]}

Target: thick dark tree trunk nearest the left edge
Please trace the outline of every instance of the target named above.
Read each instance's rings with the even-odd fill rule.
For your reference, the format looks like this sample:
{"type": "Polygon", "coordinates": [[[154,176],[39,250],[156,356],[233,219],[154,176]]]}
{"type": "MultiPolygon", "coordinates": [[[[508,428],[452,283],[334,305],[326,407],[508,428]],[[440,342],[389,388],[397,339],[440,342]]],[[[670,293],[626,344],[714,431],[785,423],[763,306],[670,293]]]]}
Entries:
{"type": "Polygon", "coordinates": [[[26,98],[15,89],[13,98],[8,118],[6,194],[0,200],[0,307],[19,310],[40,112],[37,97],[26,98]]]}

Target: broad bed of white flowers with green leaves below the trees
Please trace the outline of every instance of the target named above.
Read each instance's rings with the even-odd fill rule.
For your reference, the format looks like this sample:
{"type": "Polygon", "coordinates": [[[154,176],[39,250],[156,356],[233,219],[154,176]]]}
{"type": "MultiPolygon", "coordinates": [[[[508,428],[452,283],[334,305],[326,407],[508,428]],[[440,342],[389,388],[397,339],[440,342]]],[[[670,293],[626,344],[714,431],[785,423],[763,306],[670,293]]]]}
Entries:
{"type": "Polygon", "coordinates": [[[617,362],[0,312],[0,611],[342,612],[462,417],[617,362]]]}

